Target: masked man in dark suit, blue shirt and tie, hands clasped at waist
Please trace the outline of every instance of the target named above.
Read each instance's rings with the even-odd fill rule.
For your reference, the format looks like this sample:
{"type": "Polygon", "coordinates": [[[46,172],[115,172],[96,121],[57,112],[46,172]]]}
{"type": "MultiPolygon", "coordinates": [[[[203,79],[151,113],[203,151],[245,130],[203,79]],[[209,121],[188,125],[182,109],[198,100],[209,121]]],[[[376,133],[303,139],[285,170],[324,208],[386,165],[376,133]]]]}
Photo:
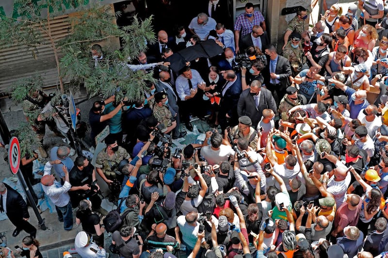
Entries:
{"type": "Polygon", "coordinates": [[[265,86],[272,94],[276,91],[276,104],[279,105],[280,100],[286,94],[286,88],[290,86],[290,61],[278,55],[276,47],[272,44],[265,48],[265,54],[269,56],[268,65],[263,72],[265,86]]]}

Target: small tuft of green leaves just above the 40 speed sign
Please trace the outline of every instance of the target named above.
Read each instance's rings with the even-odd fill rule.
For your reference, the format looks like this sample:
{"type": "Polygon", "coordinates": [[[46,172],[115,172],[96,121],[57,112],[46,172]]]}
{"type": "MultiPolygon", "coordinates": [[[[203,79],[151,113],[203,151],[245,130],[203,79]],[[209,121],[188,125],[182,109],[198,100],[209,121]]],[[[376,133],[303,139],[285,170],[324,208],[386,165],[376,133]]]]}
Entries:
{"type": "Polygon", "coordinates": [[[16,136],[20,143],[21,157],[26,154],[33,157],[33,150],[36,150],[41,143],[35,132],[31,130],[31,125],[27,122],[21,122],[16,128],[16,136]]]}

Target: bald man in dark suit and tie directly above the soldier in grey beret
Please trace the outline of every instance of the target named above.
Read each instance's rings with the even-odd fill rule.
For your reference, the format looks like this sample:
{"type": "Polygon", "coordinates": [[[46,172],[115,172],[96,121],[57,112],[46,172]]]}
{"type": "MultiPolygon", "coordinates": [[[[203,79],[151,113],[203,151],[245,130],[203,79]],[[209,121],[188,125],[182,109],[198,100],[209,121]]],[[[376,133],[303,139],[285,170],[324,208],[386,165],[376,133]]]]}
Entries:
{"type": "Polygon", "coordinates": [[[249,89],[242,91],[237,105],[237,114],[239,117],[248,116],[252,120],[252,127],[256,128],[263,110],[269,108],[276,112],[275,99],[271,91],[261,88],[261,83],[254,80],[249,89]]]}

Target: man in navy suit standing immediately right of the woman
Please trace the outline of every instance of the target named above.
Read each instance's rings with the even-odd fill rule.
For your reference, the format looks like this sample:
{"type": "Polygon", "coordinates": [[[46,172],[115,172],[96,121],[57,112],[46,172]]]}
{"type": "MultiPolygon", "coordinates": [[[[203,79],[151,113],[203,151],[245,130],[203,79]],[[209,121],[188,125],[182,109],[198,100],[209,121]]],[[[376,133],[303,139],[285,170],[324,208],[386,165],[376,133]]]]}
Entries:
{"type": "Polygon", "coordinates": [[[241,78],[233,70],[225,71],[224,79],[226,83],[222,87],[221,92],[219,92],[221,102],[220,113],[218,115],[222,131],[228,125],[233,126],[238,124],[237,103],[239,102],[242,91],[241,78]]]}

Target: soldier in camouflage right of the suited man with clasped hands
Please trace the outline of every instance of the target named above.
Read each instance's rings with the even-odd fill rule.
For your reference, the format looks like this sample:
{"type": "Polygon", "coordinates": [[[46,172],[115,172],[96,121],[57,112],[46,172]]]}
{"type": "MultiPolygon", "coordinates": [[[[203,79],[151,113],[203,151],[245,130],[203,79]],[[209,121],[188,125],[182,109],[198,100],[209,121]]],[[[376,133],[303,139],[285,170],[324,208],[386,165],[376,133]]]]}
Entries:
{"type": "Polygon", "coordinates": [[[283,56],[290,61],[292,77],[295,77],[302,70],[302,65],[306,62],[302,47],[302,36],[298,32],[294,32],[290,36],[289,41],[283,50],[283,56]]]}

